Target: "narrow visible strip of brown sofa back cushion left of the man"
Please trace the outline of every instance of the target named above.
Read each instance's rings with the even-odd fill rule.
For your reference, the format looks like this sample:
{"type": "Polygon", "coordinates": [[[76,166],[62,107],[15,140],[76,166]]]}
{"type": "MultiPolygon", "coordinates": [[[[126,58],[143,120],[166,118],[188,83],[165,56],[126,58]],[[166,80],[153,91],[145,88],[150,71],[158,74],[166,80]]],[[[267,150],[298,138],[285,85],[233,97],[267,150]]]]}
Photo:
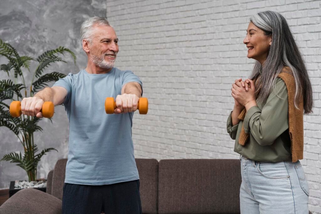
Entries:
{"type": "Polygon", "coordinates": [[[51,194],[62,200],[62,193],[65,184],[67,158],[59,159],[56,162],[52,175],[51,194]]]}

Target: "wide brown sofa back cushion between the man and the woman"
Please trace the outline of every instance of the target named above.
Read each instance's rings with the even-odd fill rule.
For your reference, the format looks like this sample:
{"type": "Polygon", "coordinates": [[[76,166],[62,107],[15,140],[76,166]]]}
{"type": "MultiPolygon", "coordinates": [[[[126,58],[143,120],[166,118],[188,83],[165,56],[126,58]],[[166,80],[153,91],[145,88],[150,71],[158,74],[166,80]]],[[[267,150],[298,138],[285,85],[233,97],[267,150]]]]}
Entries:
{"type": "Polygon", "coordinates": [[[171,159],[159,162],[160,214],[240,213],[238,159],[171,159]]]}

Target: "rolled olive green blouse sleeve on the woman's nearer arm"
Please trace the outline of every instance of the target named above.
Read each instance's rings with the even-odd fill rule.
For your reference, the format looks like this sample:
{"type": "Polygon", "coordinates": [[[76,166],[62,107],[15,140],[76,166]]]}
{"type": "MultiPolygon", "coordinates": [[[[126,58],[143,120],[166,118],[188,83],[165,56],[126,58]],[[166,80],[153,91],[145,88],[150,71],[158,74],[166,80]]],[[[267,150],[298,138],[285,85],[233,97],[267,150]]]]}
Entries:
{"type": "Polygon", "coordinates": [[[244,129],[261,146],[271,145],[289,128],[288,91],[285,82],[277,78],[262,110],[251,107],[244,118],[244,129]]]}

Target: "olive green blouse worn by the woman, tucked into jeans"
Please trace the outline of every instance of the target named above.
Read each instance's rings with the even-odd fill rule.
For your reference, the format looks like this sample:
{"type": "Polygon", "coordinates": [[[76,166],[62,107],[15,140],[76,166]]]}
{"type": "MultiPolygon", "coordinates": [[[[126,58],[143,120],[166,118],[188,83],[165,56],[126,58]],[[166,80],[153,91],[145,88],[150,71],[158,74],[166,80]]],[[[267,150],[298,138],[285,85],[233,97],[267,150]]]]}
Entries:
{"type": "Polygon", "coordinates": [[[265,105],[257,102],[239,124],[232,126],[232,112],[227,119],[227,132],[235,140],[234,151],[257,161],[291,160],[289,135],[288,91],[281,78],[276,79],[265,105]],[[242,124],[250,136],[244,146],[239,144],[242,124]]]}

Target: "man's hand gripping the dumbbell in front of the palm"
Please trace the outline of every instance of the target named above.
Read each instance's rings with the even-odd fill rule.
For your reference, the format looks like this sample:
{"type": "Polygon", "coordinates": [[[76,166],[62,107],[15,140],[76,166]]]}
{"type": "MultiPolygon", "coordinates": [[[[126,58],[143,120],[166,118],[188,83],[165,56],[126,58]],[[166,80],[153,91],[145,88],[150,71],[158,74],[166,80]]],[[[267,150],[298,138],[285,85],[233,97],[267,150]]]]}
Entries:
{"type": "Polygon", "coordinates": [[[43,99],[38,97],[23,98],[21,101],[22,114],[27,116],[37,116],[39,118],[43,117],[40,112],[43,103],[43,99]]]}

